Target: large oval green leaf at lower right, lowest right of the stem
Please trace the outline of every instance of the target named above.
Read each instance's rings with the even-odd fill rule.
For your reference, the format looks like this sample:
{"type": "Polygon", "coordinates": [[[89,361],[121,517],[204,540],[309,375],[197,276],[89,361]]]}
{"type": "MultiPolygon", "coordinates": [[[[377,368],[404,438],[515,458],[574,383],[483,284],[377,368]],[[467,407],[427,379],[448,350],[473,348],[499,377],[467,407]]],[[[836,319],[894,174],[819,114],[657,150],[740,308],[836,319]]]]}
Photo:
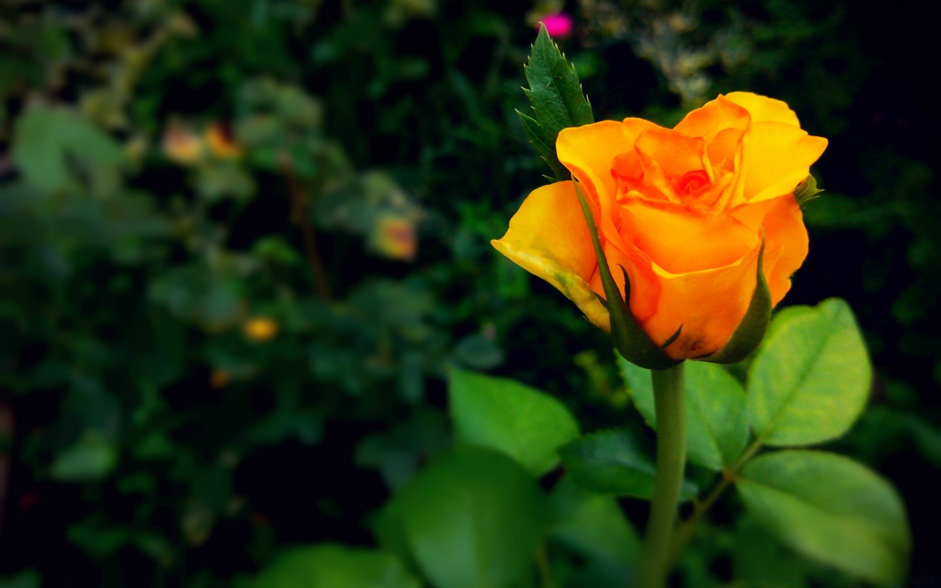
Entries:
{"type": "Polygon", "coordinates": [[[851,574],[901,580],[911,538],[895,490],[835,453],[766,453],[742,468],[736,486],[758,522],[790,548],[851,574]]]}

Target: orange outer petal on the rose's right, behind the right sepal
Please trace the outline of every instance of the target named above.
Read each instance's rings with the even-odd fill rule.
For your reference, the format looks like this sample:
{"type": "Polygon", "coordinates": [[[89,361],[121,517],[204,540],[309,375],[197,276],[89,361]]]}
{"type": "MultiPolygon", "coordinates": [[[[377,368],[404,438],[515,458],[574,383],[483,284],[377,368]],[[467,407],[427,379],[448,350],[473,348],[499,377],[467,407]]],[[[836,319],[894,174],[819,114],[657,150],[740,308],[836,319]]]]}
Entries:
{"type": "Polygon", "coordinates": [[[777,306],[790,290],[790,276],[807,257],[807,230],[804,216],[793,194],[776,199],[748,202],[729,211],[749,229],[764,227],[768,247],[765,249],[764,272],[771,290],[772,304],[777,306]],[[771,246],[780,246],[777,259],[769,255],[771,246]]]}

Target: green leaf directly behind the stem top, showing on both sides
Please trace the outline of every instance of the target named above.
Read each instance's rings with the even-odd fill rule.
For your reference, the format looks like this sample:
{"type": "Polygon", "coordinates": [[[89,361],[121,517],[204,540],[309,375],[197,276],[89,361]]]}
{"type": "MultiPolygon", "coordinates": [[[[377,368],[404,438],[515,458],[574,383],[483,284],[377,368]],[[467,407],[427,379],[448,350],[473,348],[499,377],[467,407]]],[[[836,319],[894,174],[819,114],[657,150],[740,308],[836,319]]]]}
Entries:
{"type": "MultiPolygon", "coordinates": [[[[617,364],[630,396],[650,428],[656,430],[650,371],[620,354],[617,364]]],[[[745,390],[720,365],[686,362],[686,454],[694,464],[715,471],[734,462],[748,441],[745,390]]]]}

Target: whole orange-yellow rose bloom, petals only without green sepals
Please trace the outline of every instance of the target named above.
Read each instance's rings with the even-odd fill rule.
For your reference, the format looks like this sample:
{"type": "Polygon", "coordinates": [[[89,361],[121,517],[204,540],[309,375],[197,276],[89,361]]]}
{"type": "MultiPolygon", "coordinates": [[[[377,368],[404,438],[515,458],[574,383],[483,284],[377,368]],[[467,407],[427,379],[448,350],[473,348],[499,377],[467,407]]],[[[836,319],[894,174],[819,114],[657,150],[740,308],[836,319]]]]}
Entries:
{"type": "MultiPolygon", "coordinates": [[[[604,120],[559,133],[559,161],[580,183],[630,310],[670,358],[718,351],[756,287],[758,253],[776,305],[807,255],[794,188],[826,149],[786,103],[733,92],[665,129],[604,120]]],[[[611,321],[598,260],[572,182],[533,191],[502,239],[503,255],[549,281],[597,326],[611,321]]]]}

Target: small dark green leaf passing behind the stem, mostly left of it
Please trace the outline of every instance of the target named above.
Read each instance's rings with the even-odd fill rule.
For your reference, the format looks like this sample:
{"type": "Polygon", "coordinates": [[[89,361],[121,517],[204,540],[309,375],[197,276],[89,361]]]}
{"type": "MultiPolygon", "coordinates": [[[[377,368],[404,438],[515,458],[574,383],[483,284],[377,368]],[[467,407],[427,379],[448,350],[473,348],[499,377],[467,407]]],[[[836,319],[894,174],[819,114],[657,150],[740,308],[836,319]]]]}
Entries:
{"type": "MultiPolygon", "coordinates": [[[[559,454],[568,475],[586,490],[640,499],[653,494],[653,463],[626,430],[586,435],[562,447],[559,454]]],[[[695,486],[684,482],[682,498],[689,500],[695,495],[695,486]]]]}

